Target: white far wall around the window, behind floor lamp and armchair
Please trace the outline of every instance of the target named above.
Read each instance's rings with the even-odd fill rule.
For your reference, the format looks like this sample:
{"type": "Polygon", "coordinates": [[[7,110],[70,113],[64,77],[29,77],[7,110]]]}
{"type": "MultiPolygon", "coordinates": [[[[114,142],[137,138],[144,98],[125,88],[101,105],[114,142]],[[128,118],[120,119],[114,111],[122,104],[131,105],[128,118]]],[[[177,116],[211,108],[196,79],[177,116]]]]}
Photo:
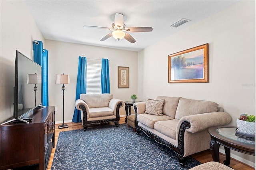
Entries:
{"type": "MultiPolygon", "coordinates": [[[[70,84],[65,85],[64,91],[64,122],[70,122],[75,107],[79,56],[90,59],[108,58],[110,60],[110,93],[113,94],[114,98],[130,101],[130,96],[134,93],[137,94],[137,52],[52,40],[45,41],[44,47],[48,49],[49,53],[49,106],[57,108],[56,121],[62,121],[62,85],[55,84],[56,74],[70,75],[70,84]],[[118,89],[118,66],[130,67],[130,88],[118,89]]],[[[122,115],[125,115],[124,107],[120,109],[120,116],[122,115]]]]}

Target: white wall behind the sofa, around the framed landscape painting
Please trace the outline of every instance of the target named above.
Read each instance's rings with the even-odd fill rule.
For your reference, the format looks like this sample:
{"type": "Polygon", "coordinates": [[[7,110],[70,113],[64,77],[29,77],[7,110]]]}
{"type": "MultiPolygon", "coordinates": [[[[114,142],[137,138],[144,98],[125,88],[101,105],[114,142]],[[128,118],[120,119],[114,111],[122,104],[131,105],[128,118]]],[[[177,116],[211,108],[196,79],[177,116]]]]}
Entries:
{"type": "MultiPolygon", "coordinates": [[[[238,2],[140,51],[138,95],[214,101],[232,116],[232,126],[242,113],[255,115],[255,1],[238,2]],[[205,43],[209,83],[168,83],[168,55],[205,43]]],[[[232,153],[255,162],[255,156],[232,153]]]]}

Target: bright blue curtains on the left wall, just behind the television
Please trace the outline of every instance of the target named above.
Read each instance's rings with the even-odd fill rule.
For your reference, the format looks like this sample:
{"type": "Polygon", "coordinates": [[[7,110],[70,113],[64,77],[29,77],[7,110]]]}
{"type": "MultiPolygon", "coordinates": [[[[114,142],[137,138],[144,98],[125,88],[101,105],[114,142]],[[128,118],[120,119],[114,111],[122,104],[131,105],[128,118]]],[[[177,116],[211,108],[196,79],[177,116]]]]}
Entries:
{"type": "Polygon", "coordinates": [[[48,106],[48,50],[41,41],[33,41],[33,60],[42,66],[42,105],[48,106]]]}

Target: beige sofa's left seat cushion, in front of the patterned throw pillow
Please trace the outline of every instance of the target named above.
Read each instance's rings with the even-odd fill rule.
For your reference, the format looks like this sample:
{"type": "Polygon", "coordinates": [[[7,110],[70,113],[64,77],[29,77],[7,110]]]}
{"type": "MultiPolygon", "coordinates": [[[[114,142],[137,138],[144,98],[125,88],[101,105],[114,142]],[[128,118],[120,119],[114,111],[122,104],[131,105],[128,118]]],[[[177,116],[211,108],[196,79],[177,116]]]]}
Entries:
{"type": "Polygon", "coordinates": [[[137,117],[138,122],[143,123],[147,127],[154,128],[154,124],[157,121],[166,121],[172,119],[169,116],[163,115],[163,116],[157,116],[157,115],[150,115],[146,113],[139,114],[137,117]]]}

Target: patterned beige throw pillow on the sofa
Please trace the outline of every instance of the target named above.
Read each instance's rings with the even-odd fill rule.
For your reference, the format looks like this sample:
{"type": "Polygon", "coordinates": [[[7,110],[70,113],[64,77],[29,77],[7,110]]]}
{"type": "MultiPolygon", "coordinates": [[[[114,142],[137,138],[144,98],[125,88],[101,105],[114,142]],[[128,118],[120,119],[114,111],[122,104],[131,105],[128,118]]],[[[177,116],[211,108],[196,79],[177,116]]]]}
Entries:
{"type": "Polygon", "coordinates": [[[150,115],[163,115],[164,99],[163,100],[153,100],[146,99],[146,111],[145,113],[150,115]]]}

